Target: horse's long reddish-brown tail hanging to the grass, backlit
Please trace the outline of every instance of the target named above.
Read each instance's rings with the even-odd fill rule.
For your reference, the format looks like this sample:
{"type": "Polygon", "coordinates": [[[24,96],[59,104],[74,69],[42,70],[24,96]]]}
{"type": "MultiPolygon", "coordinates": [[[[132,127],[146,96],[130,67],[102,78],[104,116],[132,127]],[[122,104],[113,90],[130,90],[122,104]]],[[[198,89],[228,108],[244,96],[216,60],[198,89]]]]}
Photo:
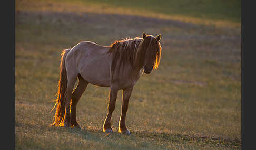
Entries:
{"type": "MultiPolygon", "coordinates": [[[[67,53],[70,51],[70,49],[64,49],[61,53],[61,64],[60,64],[60,80],[58,80],[58,92],[56,95],[58,96],[55,100],[55,105],[53,106],[53,109],[55,106],[56,112],[54,117],[54,122],[51,125],[56,126],[64,126],[64,119],[65,119],[65,92],[67,88],[67,71],[66,71],[66,65],[65,65],[65,59],[67,56],[67,53]]],[[[51,112],[53,111],[51,110],[51,112]]]]}

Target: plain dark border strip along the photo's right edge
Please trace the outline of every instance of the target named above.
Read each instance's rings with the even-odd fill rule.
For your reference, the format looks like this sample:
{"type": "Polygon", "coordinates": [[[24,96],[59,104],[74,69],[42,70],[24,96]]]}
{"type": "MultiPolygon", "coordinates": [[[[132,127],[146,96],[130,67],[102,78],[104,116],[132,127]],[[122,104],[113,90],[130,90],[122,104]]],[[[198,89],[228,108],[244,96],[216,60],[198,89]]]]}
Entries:
{"type": "Polygon", "coordinates": [[[256,51],[255,44],[255,27],[256,23],[255,20],[255,5],[253,1],[241,1],[241,40],[242,40],[242,64],[241,64],[241,71],[242,71],[242,149],[253,149],[254,139],[255,139],[255,106],[254,103],[256,89],[255,87],[255,77],[256,72],[255,70],[255,56],[253,55],[256,51]],[[251,2],[251,3],[249,3],[251,2]]]}

